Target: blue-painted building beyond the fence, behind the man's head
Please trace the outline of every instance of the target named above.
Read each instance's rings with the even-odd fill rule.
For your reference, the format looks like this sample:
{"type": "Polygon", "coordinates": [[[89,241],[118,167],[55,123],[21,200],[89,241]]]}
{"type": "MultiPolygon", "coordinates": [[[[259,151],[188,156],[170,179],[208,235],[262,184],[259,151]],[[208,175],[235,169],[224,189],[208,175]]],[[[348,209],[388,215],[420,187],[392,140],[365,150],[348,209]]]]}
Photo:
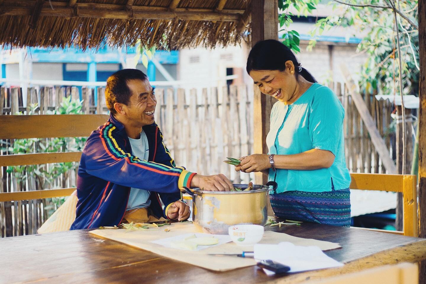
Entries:
{"type": "MultiPolygon", "coordinates": [[[[106,81],[109,75],[123,68],[127,58],[135,55],[134,47],[113,49],[104,46],[87,51],[76,48],[27,48],[12,49],[10,52],[10,49],[3,49],[0,58],[1,78],[21,79],[21,73],[24,73],[24,78],[29,80],[106,81]],[[27,65],[21,67],[26,69],[24,72],[19,70],[19,64],[27,65]]],[[[178,51],[156,51],[154,58],[176,78],[178,51]]],[[[151,81],[165,80],[153,61],[149,61],[148,68],[145,68],[139,59],[136,68],[146,72],[151,81]]]]}

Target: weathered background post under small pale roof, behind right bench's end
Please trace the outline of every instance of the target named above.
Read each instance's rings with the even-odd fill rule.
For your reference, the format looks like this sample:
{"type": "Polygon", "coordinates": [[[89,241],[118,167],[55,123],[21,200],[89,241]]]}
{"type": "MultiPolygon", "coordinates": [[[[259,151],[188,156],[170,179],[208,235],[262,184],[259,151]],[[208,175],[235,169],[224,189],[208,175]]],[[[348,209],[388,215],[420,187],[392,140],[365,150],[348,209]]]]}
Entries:
{"type": "MultiPolygon", "coordinates": [[[[411,162],[413,160],[413,139],[411,129],[412,129],[412,119],[408,116],[411,116],[411,109],[406,108],[405,109],[405,115],[406,115],[406,123],[405,123],[405,129],[406,129],[406,166],[405,169],[402,168],[402,159],[403,159],[403,140],[402,140],[402,107],[397,106],[397,130],[396,130],[396,144],[397,144],[397,168],[398,168],[398,174],[409,174],[411,171],[411,162]]],[[[403,196],[401,193],[398,193],[397,195],[397,220],[395,223],[395,227],[397,231],[403,230],[403,196]]]]}

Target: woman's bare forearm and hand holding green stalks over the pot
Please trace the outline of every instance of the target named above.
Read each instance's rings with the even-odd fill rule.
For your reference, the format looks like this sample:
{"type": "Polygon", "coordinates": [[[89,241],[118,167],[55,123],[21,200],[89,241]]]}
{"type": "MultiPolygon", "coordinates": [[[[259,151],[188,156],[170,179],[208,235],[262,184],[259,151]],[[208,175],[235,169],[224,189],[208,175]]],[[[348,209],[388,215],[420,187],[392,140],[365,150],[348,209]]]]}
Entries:
{"type": "MultiPolygon", "coordinates": [[[[274,155],[275,168],[287,170],[317,170],[330,168],[334,162],[334,154],[327,150],[311,149],[294,155],[274,155]]],[[[254,154],[242,159],[240,165],[235,167],[236,171],[245,173],[262,171],[271,168],[269,155],[254,154]]]]}

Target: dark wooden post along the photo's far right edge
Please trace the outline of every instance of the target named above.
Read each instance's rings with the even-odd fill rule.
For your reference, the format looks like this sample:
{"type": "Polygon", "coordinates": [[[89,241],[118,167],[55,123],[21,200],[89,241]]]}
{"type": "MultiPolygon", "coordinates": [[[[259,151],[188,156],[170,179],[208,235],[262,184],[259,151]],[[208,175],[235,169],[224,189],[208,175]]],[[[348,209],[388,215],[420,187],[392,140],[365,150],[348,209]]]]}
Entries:
{"type": "MultiPolygon", "coordinates": [[[[419,220],[420,237],[426,238],[426,3],[419,1],[419,220]]],[[[419,283],[426,283],[426,262],[419,265],[419,283]]]]}

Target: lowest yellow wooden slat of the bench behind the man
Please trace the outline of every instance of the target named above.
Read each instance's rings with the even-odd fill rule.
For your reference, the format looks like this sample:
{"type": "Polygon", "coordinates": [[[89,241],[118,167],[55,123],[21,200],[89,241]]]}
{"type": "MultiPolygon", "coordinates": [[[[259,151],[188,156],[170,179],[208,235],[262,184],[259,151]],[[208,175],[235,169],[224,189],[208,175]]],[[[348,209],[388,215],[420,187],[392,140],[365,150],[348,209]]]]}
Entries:
{"type": "Polygon", "coordinates": [[[0,193],[0,202],[69,196],[72,194],[72,192],[75,191],[75,189],[75,187],[72,187],[19,192],[3,192],[0,193]]]}

